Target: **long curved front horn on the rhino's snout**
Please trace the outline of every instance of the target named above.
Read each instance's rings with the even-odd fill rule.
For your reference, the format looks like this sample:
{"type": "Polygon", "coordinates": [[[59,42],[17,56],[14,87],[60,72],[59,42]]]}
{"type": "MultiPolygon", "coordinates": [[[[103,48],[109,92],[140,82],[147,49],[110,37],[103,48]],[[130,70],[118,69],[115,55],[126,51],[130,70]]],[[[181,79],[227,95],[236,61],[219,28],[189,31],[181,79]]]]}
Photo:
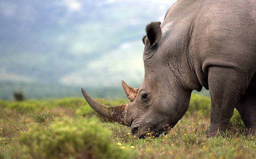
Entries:
{"type": "Polygon", "coordinates": [[[118,123],[121,123],[126,126],[130,126],[131,123],[127,121],[127,106],[129,103],[117,105],[117,106],[106,106],[98,101],[94,100],[91,96],[89,96],[86,91],[81,88],[82,94],[87,101],[87,103],[93,108],[94,111],[99,113],[100,115],[112,119],[118,123]]]}

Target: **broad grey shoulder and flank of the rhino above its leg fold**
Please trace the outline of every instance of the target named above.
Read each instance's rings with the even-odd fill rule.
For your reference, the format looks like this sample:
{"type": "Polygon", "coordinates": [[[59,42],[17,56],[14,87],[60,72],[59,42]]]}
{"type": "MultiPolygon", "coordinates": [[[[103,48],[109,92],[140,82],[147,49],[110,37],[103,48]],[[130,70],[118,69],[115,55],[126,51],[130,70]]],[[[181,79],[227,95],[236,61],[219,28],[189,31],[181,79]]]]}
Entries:
{"type": "Polygon", "coordinates": [[[255,10],[255,1],[205,1],[194,29],[203,67],[256,68],[255,10]]]}

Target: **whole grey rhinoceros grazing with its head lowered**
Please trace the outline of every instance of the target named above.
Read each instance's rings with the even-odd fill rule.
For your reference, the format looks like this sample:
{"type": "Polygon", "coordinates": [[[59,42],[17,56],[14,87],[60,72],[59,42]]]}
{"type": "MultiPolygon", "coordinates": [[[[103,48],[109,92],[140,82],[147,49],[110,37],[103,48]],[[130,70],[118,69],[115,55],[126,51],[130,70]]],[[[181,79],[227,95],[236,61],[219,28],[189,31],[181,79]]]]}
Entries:
{"type": "Polygon", "coordinates": [[[99,114],[131,127],[173,127],[188,109],[192,90],[209,89],[210,126],[205,135],[225,132],[234,108],[249,129],[256,128],[256,1],[178,0],[151,22],[142,38],[145,76],[140,88],[122,81],[130,103],[106,106],[82,88],[99,114]]]}

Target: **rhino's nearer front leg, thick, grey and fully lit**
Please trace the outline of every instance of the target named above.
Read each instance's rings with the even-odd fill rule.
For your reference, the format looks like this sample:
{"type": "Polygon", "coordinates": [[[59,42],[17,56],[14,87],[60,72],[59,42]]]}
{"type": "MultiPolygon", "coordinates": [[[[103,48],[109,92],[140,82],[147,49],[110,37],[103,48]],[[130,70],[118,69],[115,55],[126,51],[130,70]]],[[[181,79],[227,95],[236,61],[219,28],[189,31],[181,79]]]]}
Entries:
{"type": "Polygon", "coordinates": [[[208,69],[208,84],[211,96],[211,122],[207,136],[223,134],[233,115],[234,107],[245,94],[248,77],[232,68],[211,66],[208,69]]]}

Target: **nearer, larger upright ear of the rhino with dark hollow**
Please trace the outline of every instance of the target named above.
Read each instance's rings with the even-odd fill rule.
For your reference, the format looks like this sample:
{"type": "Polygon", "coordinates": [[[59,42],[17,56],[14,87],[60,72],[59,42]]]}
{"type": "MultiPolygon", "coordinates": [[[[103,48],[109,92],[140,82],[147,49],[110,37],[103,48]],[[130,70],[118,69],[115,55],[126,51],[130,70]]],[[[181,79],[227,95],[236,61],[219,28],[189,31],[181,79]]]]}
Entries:
{"type": "Polygon", "coordinates": [[[160,24],[161,22],[151,22],[146,26],[146,33],[150,46],[159,42],[162,37],[160,24]]]}

